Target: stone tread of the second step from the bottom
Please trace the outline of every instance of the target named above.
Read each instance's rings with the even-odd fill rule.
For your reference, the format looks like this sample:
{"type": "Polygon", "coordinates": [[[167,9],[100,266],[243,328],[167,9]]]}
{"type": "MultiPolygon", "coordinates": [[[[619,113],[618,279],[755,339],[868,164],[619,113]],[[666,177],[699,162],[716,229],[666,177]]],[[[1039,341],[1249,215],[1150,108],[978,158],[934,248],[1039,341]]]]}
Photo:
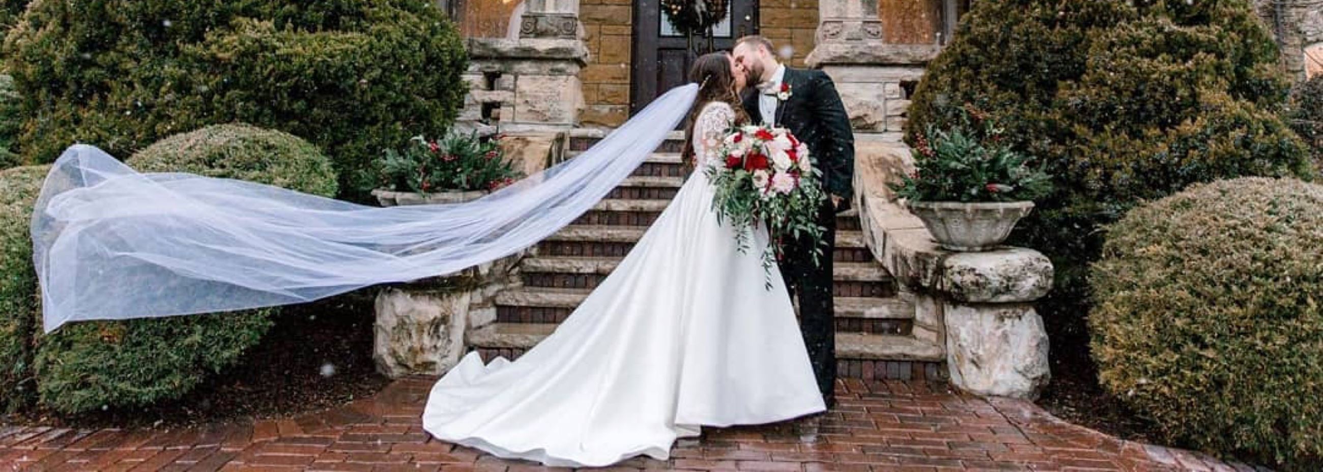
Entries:
{"type": "MultiPolygon", "coordinates": [[[[521,287],[496,294],[496,304],[504,307],[576,308],[590,290],[560,287],[521,287]]],[[[909,320],[914,305],[898,297],[835,297],[836,316],[872,320],[909,320]]]]}

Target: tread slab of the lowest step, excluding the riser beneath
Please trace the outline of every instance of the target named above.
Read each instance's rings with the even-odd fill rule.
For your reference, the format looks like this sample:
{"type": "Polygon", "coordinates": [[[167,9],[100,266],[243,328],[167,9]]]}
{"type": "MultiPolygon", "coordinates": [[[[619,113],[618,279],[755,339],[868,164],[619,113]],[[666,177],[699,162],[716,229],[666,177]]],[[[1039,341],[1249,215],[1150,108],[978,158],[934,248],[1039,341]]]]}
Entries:
{"type": "MultiPolygon", "coordinates": [[[[468,345],[486,349],[529,349],[556,331],[554,323],[493,323],[475,329],[468,345]]],[[[865,361],[946,360],[942,346],[910,336],[836,333],[836,357],[865,361]]]]}

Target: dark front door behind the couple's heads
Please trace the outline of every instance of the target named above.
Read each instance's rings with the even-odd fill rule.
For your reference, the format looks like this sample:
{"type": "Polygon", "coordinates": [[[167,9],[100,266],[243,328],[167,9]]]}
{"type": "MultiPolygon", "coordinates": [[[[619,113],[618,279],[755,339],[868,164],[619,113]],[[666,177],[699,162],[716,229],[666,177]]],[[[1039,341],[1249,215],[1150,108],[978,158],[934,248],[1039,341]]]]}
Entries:
{"type": "MultiPolygon", "coordinates": [[[[713,30],[718,50],[730,50],[741,36],[758,34],[758,0],[730,0],[730,15],[713,30]]],[[[695,49],[706,48],[705,38],[695,38],[695,49]]],[[[631,69],[630,114],[643,110],[675,86],[684,85],[689,65],[697,56],[689,50],[684,34],[677,33],[660,0],[634,3],[634,65],[631,69]]]]}

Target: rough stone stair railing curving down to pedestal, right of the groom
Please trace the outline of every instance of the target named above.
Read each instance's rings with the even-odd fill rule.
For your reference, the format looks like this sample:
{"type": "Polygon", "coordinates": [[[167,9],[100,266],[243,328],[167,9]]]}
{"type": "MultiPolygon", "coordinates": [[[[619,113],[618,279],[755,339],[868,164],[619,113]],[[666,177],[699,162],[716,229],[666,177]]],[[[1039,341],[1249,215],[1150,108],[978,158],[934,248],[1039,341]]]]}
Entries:
{"type": "Polygon", "coordinates": [[[864,237],[914,297],[914,337],[946,346],[951,386],[978,395],[1036,398],[1050,372],[1048,336],[1032,303],[1052,288],[1052,263],[1021,247],[939,249],[886,186],[912,168],[902,143],[857,135],[855,180],[864,237]]]}

